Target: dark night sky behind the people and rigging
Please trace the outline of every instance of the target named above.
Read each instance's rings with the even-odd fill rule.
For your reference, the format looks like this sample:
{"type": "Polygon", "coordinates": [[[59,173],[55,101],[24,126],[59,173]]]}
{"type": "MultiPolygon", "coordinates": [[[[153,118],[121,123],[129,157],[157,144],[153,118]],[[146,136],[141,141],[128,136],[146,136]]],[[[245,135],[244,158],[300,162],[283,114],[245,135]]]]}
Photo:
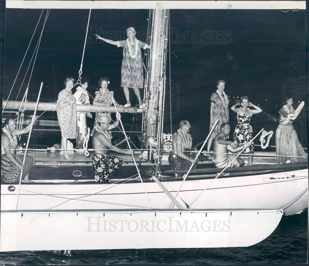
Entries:
{"type": "MultiPolygon", "coordinates": [[[[41,11],[6,9],[4,98],[11,89],[41,11]]],[[[66,75],[78,77],[88,14],[88,10],[50,11],[30,82],[29,101],[36,100],[41,82],[44,82],[41,100],[56,101],[58,92],[64,88],[66,75]]],[[[138,38],[146,41],[148,16],[149,10],[91,11],[82,76],[90,78],[89,91],[93,95],[98,80],[107,76],[116,101],[125,103],[120,87],[122,48],[96,41],[94,34],[100,32],[103,36],[107,32],[108,38],[121,40],[125,39],[125,29],[132,26],[138,38]]],[[[171,10],[171,51],[177,56],[171,54],[171,79],[176,88],[171,100],[173,125],[177,127],[181,119],[188,119],[195,125],[193,135],[205,139],[209,131],[210,96],[216,90],[218,78],[226,80],[225,91],[230,99],[248,95],[252,103],[259,104],[271,115],[278,116],[282,98],[287,93],[294,94],[294,102],[305,101],[306,86],[299,80],[306,75],[305,19],[304,10],[286,13],[280,10],[171,10]]],[[[42,23],[38,28],[35,44],[42,23]]],[[[20,81],[34,46],[31,45],[25,59],[20,81]]],[[[167,59],[167,78],[168,63],[167,59]]],[[[13,96],[16,98],[16,92],[13,96]]],[[[232,124],[235,117],[230,112],[232,124]]],[[[168,124],[168,113],[166,119],[168,124]]],[[[304,110],[296,122],[298,135],[305,138],[304,110]]],[[[262,126],[276,128],[277,124],[265,115],[256,115],[252,126],[258,132],[262,126]]]]}

